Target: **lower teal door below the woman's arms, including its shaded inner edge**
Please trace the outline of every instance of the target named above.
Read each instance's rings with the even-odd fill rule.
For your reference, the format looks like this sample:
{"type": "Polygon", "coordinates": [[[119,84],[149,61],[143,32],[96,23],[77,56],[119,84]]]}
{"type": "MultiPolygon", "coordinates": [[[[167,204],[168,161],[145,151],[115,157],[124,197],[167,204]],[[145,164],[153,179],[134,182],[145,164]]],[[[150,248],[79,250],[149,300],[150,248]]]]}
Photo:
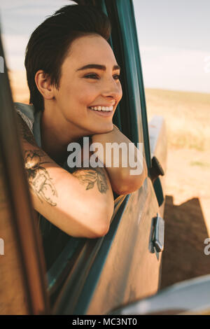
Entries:
{"type": "Polygon", "coordinates": [[[54,314],[106,314],[158,290],[161,253],[153,253],[151,246],[158,202],[151,180],[120,199],[108,234],[97,241],[87,240],[76,261],[83,264],[66,280],[54,314]],[[79,286],[73,279],[76,275],[79,286]]]}

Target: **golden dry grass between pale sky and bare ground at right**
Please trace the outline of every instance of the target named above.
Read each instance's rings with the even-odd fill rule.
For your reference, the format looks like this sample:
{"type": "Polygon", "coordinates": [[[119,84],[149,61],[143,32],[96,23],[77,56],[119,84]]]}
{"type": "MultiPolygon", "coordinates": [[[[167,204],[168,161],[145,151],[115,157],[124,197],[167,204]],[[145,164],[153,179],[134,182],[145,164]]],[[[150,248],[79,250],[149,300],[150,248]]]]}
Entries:
{"type": "Polygon", "coordinates": [[[167,122],[169,147],[209,150],[210,94],[146,89],[148,118],[167,122]]]}

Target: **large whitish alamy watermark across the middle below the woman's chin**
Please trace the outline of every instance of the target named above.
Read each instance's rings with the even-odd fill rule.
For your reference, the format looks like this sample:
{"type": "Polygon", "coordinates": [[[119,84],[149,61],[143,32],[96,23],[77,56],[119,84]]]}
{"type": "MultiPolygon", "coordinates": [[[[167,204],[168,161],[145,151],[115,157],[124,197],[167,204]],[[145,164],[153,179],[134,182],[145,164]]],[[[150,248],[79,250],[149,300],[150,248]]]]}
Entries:
{"type": "Polygon", "coordinates": [[[83,137],[83,165],[82,150],[79,143],[70,143],[67,151],[72,153],[67,158],[70,168],[81,167],[130,167],[130,175],[141,175],[143,172],[143,143],[106,143],[106,149],[101,143],[89,144],[89,137],[83,137]],[[92,155],[89,154],[93,152],[92,155]]]}

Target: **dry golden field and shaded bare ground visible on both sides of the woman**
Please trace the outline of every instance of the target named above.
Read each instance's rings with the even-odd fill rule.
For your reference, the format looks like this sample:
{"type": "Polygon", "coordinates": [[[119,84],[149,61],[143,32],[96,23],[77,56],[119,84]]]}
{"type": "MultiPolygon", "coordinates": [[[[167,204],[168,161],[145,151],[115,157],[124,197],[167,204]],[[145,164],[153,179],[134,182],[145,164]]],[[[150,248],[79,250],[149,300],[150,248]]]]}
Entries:
{"type": "MultiPolygon", "coordinates": [[[[26,76],[10,72],[14,102],[27,103],[26,76]]],[[[164,116],[168,134],[162,287],[210,273],[210,94],[146,89],[148,120],[164,116]]]]}

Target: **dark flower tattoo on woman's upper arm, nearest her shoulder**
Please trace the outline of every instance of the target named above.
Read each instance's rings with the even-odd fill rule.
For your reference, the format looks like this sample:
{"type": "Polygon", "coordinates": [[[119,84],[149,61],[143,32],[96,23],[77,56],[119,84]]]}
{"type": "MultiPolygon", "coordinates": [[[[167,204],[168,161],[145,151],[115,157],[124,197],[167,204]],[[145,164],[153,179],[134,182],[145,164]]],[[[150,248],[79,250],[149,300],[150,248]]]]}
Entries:
{"type": "Polygon", "coordinates": [[[41,202],[44,200],[51,206],[56,206],[55,198],[57,197],[57,191],[48,171],[41,166],[44,163],[48,163],[41,162],[41,156],[42,154],[39,150],[25,151],[25,169],[29,186],[41,202]]]}

